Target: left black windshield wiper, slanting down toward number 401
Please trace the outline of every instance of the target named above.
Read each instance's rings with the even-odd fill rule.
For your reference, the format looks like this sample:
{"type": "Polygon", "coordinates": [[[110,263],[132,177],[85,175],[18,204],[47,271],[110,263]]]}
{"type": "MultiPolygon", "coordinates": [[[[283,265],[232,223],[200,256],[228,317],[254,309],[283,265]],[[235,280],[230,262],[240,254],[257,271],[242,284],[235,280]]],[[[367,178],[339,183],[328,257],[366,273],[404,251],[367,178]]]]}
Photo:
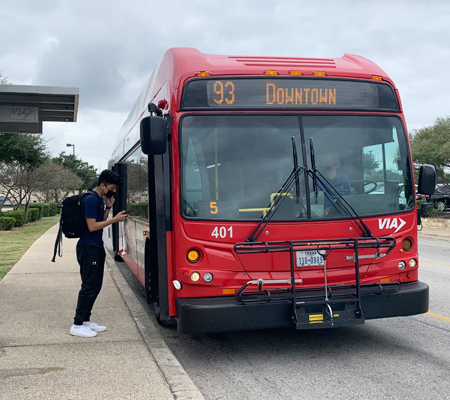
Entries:
{"type": "Polygon", "coordinates": [[[297,203],[300,202],[300,184],[298,182],[299,174],[301,171],[304,170],[303,167],[298,166],[298,159],[297,159],[297,146],[295,145],[295,138],[292,137],[292,158],[294,162],[294,168],[292,169],[291,174],[288,176],[286,181],[281,185],[280,189],[278,190],[275,198],[273,201],[271,201],[268,210],[265,214],[262,215],[258,225],[256,225],[256,228],[253,229],[253,231],[250,233],[250,235],[245,239],[246,242],[256,242],[258,238],[261,236],[261,233],[264,231],[267,223],[270,221],[270,219],[274,216],[275,212],[278,210],[278,204],[281,204],[281,202],[286,197],[286,191],[291,188],[293,183],[295,182],[295,194],[296,194],[296,200],[297,203]],[[285,195],[283,195],[283,193],[285,195]]]}

